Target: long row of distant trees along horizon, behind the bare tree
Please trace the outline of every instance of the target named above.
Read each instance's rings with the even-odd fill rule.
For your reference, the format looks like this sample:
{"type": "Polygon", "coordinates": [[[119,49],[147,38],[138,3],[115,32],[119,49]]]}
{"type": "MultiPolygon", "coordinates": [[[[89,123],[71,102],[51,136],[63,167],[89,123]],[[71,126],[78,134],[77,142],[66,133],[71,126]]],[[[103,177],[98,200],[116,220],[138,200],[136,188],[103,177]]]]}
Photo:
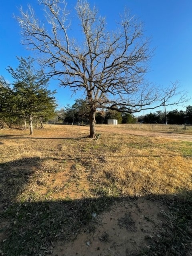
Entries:
{"type": "MultiPolygon", "coordinates": [[[[64,124],[88,124],[89,106],[84,99],[76,99],[75,103],[66,108],[56,110],[55,117],[49,121],[62,122],[64,124]]],[[[134,124],[142,122],[146,124],[192,124],[192,106],[186,106],[186,110],[171,110],[165,112],[158,110],[145,115],[134,116],[132,113],[118,112],[116,110],[98,110],[96,111],[96,124],[107,124],[108,119],[118,120],[118,124],[134,124]]]]}

